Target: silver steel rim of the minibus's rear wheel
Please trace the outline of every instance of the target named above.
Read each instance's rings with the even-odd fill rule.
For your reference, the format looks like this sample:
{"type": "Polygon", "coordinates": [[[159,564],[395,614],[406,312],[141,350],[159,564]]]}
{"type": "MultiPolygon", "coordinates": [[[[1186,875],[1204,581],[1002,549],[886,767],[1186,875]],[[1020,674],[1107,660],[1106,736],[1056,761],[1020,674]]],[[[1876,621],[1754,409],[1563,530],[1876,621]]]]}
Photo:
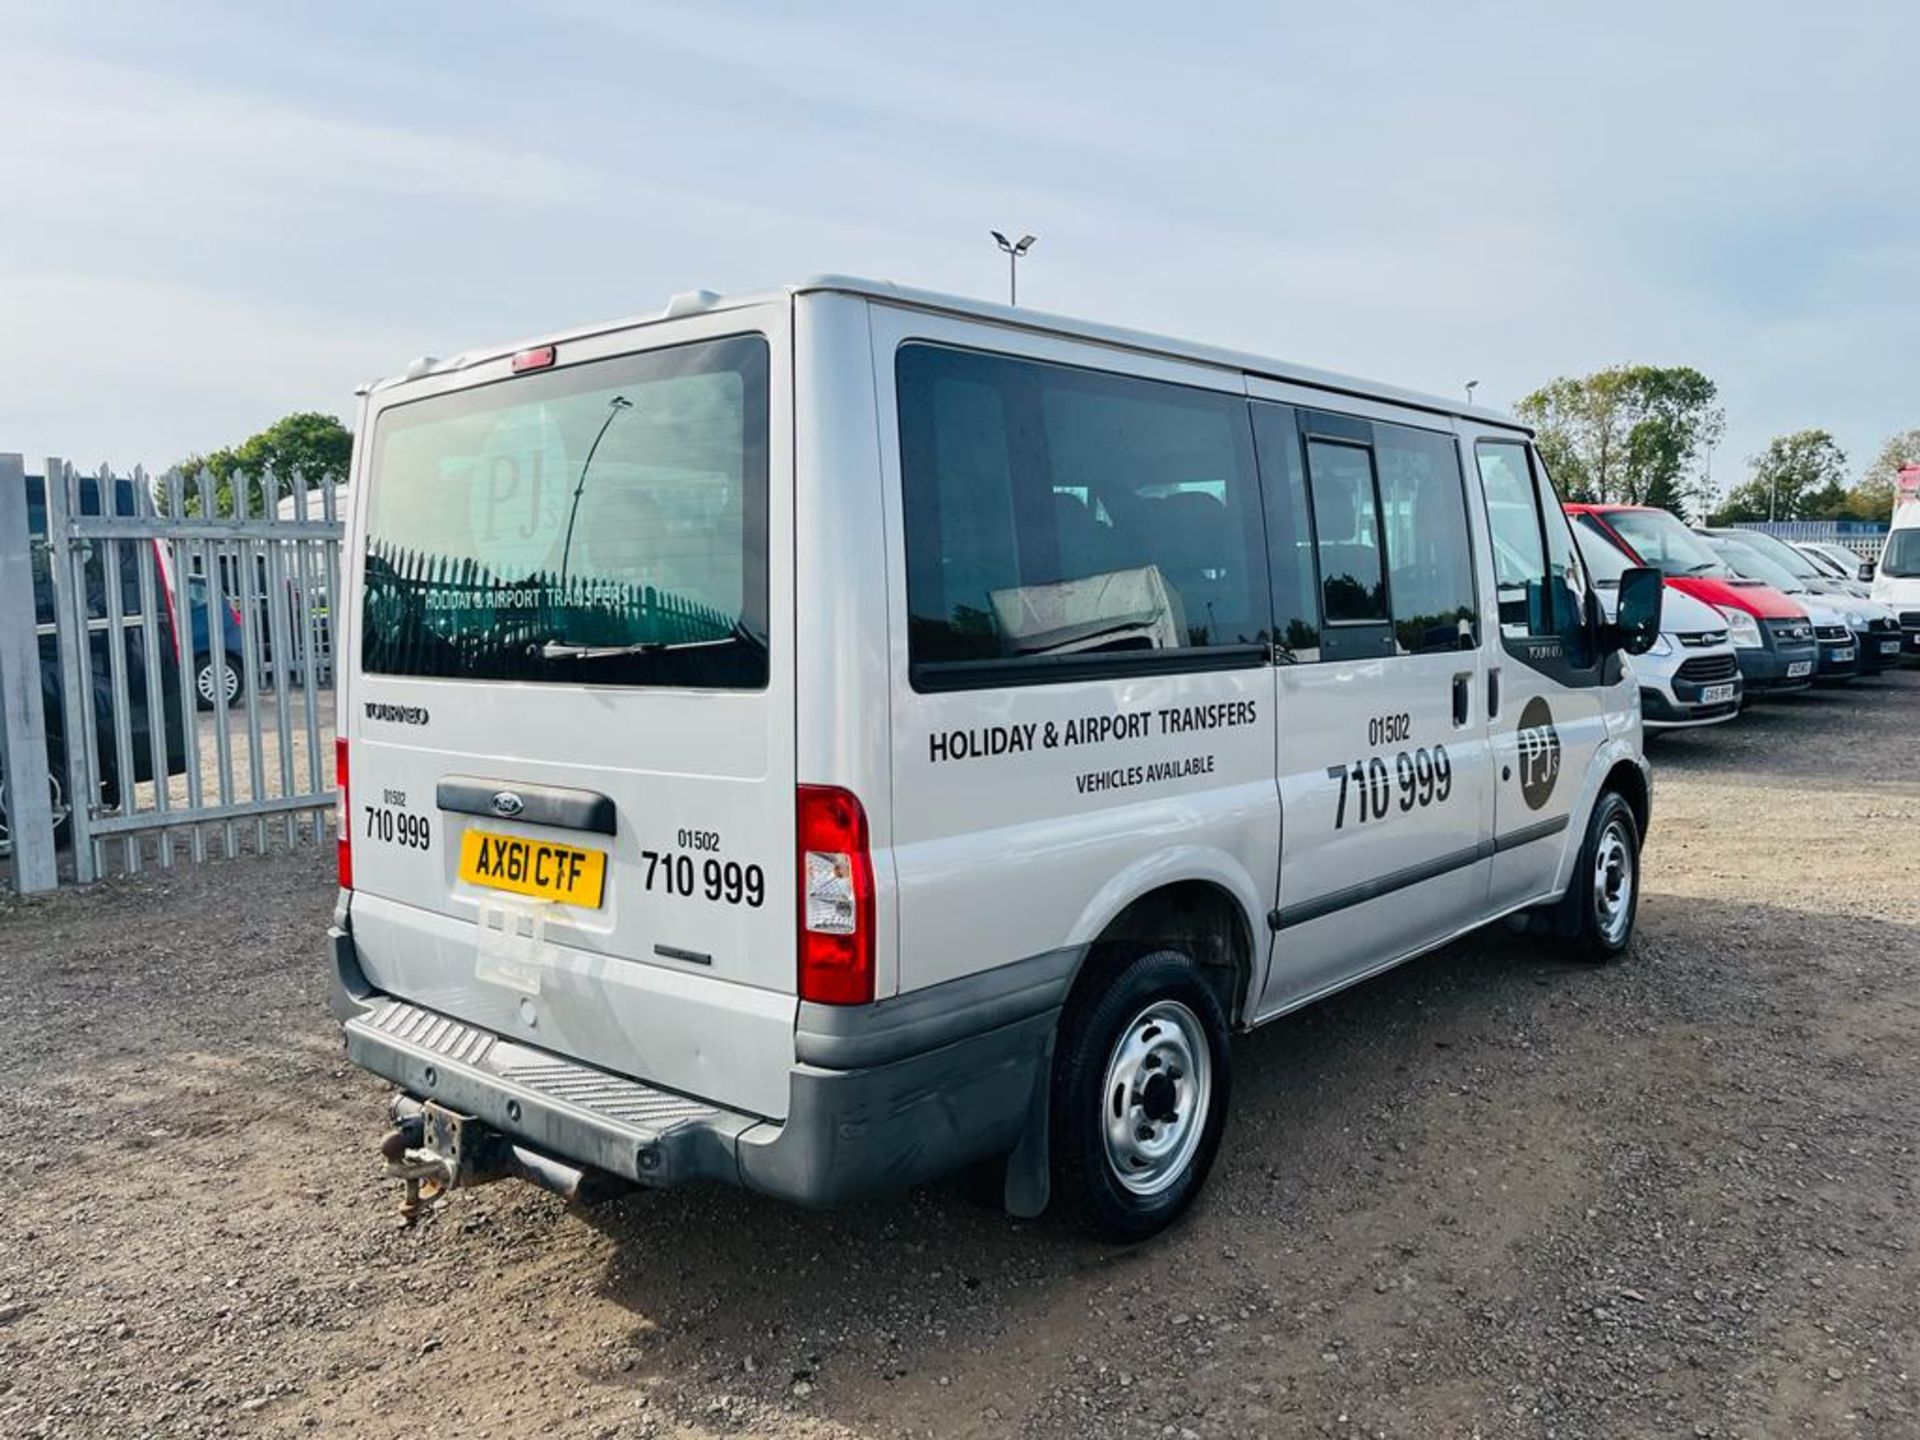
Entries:
{"type": "Polygon", "coordinates": [[[1154,1000],[1119,1031],[1100,1091],[1106,1165],[1139,1196],[1171,1188],[1206,1133],[1213,1054],[1200,1018],[1179,1000],[1154,1000]]]}

